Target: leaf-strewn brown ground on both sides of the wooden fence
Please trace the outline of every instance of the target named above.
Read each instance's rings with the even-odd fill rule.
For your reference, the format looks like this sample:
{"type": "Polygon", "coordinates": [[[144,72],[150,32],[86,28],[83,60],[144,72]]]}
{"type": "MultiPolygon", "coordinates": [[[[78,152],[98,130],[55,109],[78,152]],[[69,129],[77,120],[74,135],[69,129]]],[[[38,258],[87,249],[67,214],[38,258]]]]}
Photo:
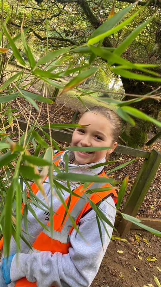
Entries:
{"type": "MultiPolygon", "coordinates": [[[[22,98],[21,98],[22,99],[22,98]]],[[[65,98],[66,99],[66,98],[65,98]]],[[[69,99],[69,98],[68,98],[69,99]]],[[[76,109],[82,112],[85,107],[80,106],[79,101],[77,103],[64,103],[66,100],[63,98],[57,99],[56,103],[50,106],[50,120],[52,123],[71,123],[73,113],[76,109]],[[63,108],[62,108],[63,106],[63,108]]],[[[15,106],[16,101],[13,101],[15,106]]],[[[24,105],[27,104],[24,103],[24,105]]],[[[22,112],[24,113],[24,105],[21,100],[22,112]]],[[[88,103],[87,103],[88,105],[88,103]]],[[[33,110],[32,115],[36,116],[36,111],[33,110]]],[[[26,116],[27,116],[26,112],[26,116]]],[[[21,118],[24,119],[22,116],[21,118]]],[[[41,112],[41,118],[39,123],[47,123],[47,110],[41,112]]],[[[150,134],[149,138],[154,136],[150,134]]],[[[70,143],[61,143],[63,146],[68,146],[70,143]]],[[[151,147],[144,146],[143,149],[151,151],[152,149],[158,149],[161,151],[161,140],[157,140],[151,147]]],[[[111,159],[121,159],[121,163],[130,160],[132,157],[125,155],[113,154],[111,159]]],[[[123,202],[126,200],[131,186],[137,176],[138,170],[143,162],[143,159],[138,159],[121,170],[113,172],[112,175],[120,181],[129,174],[129,185],[126,191],[126,196],[123,202]]],[[[113,166],[108,166],[106,169],[112,169],[113,166]]],[[[148,190],[148,193],[140,207],[137,216],[157,217],[161,219],[161,198],[160,198],[160,169],[156,173],[154,180],[148,190]]],[[[109,244],[106,254],[103,258],[100,269],[97,276],[93,280],[91,286],[159,286],[156,283],[157,279],[161,283],[161,240],[159,237],[152,235],[144,230],[131,230],[125,237],[120,239],[119,234],[114,232],[113,239],[109,244]],[[118,251],[122,251],[119,253],[118,251]],[[153,260],[148,261],[147,257],[155,257],[153,260]],[[155,281],[154,281],[155,279],[155,281]]]]}

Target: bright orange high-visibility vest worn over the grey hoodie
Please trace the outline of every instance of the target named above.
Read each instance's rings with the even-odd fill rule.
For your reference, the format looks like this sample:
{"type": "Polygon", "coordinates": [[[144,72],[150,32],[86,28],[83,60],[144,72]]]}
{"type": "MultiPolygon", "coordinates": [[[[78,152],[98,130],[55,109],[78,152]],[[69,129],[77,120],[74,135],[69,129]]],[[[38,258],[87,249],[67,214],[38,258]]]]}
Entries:
{"type": "MultiPolygon", "coordinates": [[[[58,152],[56,156],[60,155],[62,152],[58,152]]],[[[60,158],[55,161],[55,158],[53,159],[54,163],[58,165],[60,158]]],[[[98,176],[106,176],[104,171],[99,174],[98,176]]],[[[47,177],[46,177],[47,178],[47,177]]],[[[46,179],[45,178],[45,179],[46,179]]],[[[92,210],[88,197],[97,204],[100,200],[106,199],[109,196],[112,196],[114,199],[114,202],[116,204],[117,202],[117,193],[114,189],[109,191],[102,191],[98,193],[92,193],[92,194],[85,194],[84,192],[87,189],[94,189],[94,188],[103,188],[103,187],[109,187],[110,184],[103,184],[103,183],[90,183],[89,186],[85,189],[82,189],[83,185],[79,185],[77,188],[75,188],[74,193],[76,193],[78,196],[72,195],[71,201],[69,204],[69,213],[70,216],[72,216],[72,219],[75,221],[76,225],[78,225],[79,220],[83,215],[88,213],[90,210],[92,210]]],[[[36,184],[32,184],[31,186],[32,191],[36,194],[38,192],[38,187],[36,184]]],[[[69,200],[68,198],[65,200],[65,203],[67,205],[69,200]]],[[[23,207],[22,207],[23,210],[23,207]]],[[[72,233],[72,230],[74,229],[72,222],[70,220],[70,217],[68,214],[66,214],[65,220],[63,221],[64,214],[66,212],[66,209],[63,204],[58,208],[56,211],[56,214],[53,215],[53,233],[51,235],[49,229],[50,229],[50,222],[47,223],[47,228],[43,229],[41,233],[38,235],[38,237],[35,239],[32,247],[34,252],[40,252],[40,251],[51,251],[53,254],[55,252],[61,252],[62,254],[67,254],[70,245],[70,234],[72,233]],[[62,224],[63,222],[63,224],[62,224]]],[[[23,213],[23,211],[22,211],[23,213]]],[[[24,287],[24,286],[37,286],[36,282],[31,283],[29,282],[26,277],[21,278],[16,281],[16,287],[24,287]]]]}

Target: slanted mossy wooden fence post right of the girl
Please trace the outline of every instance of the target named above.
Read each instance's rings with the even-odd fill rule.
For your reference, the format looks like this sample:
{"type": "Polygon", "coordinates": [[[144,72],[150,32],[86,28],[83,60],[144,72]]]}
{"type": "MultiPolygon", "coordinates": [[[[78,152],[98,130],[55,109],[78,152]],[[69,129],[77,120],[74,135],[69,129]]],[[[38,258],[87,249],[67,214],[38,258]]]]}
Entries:
{"type": "MultiPolygon", "coordinates": [[[[133,184],[130,194],[126,200],[122,212],[131,216],[136,216],[143,202],[143,199],[151,185],[161,162],[161,152],[153,149],[148,159],[145,158],[137,178],[133,184]]],[[[121,218],[117,226],[117,231],[124,236],[131,228],[132,223],[121,218]]]]}

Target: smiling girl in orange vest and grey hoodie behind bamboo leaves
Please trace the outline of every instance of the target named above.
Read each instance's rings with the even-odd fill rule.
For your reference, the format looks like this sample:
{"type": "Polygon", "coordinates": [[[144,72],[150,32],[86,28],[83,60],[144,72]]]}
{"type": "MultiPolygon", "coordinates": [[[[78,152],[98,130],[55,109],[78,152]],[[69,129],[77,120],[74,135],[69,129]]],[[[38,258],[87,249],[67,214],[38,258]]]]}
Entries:
{"type": "MultiPolygon", "coordinates": [[[[110,147],[109,149],[80,152],[66,151],[69,157],[68,171],[84,175],[99,175],[106,177],[103,166],[92,168],[95,164],[106,162],[107,156],[117,146],[117,138],[120,132],[120,121],[118,116],[102,106],[95,106],[83,113],[79,124],[86,127],[76,128],[72,136],[72,146],[77,147],[110,147]]],[[[53,159],[60,166],[62,172],[65,168],[66,152],[56,153],[53,159]]],[[[54,175],[57,172],[54,171],[54,175]]],[[[58,181],[58,180],[57,180],[58,181]]],[[[66,181],[58,181],[61,186],[61,197],[66,204],[69,203],[69,190],[66,181]]],[[[49,178],[45,179],[44,190],[51,202],[51,190],[49,178]]],[[[79,232],[66,215],[62,224],[65,208],[61,204],[59,196],[52,196],[53,211],[53,234],[43,229],[35,217],[28,211],[28,233],[33,251],[21,240],[21,250],[16,253],[16,243],[11,238],[10,256],[3,259],[2,272],[6,284],[9,286],[90,286],[95,278],[100,263],[109,245],[112,236],[112,227],[106,222],[104,226],[100,222],[102,242],[97,225],[95,211],[89,205],[88,197],[95,204],[99,204],[99,210],[106,218],[114,224],[115,203],[117,194],[115,190],[106,190],[92,193],[88,196],[84,191],[92,188],[109,187],[107,183],[91,183],[86,189],[77,181],[70,183],[71,190],[78,196],[72,195],[70,199],[69,212],[74,219],[79,232]],[[107,234],[108,233],[108,234],[107,234]]],[[[34,191],[39,199],[44,198],[39,190],[34,191]]],[[[55,190],[53,187],[53,194],[55,190]]],[[[37,208],[31,204],[38,219],[49,228],[49,217],[47,210],[37,208]]],[[[24,230],[24,224],[22,222],[24,230]]],[[[25,233],[24,233],[25,235],[25,233]]],[[[26,236],[27,238],[27,236],[26,236]]],[[[28,240],[28,239],[27,239],[28,240]]],[[[3,258],[3,255],[2,255],[3,258]]],[[[0,286],[7,286],[1,276],[0,286]]]]}

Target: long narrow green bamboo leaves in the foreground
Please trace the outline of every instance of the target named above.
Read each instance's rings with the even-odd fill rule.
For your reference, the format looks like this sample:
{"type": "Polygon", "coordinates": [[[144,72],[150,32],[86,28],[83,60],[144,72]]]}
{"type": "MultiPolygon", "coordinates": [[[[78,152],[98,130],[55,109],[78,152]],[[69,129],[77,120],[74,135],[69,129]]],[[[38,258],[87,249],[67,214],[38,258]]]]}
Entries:
{"type": "MultiPolygon", "coordinates": [[[[75,4],[73,4],[74,6],[75,4]]],[[[124,77],[133,77],[134,79],[138,78],[140,80],[144,80],[146,77],[146,80],[150,81],[160,81],[160,74],[153,73],[149,68],[155,67],[155,65],[149,65],[149,64],[134,64],[133,62],[130,62],[126,59],[123,59],[120,57],[120,55],[125,51],[125,48],[131,43],[132,40],[134,40],[134,37],[138,35],[138,33],[143,30],[145,25],[148,25],[152,18],[147,20],[146,23],[143,25],[140,25],[138,28],[134,29],[134,32],[130,34],[129,37],[126,38],[126,40],[122,41],[122,44],[118,45],[116,49],[114,48],[104,48],[101,47],[102,42],[104,38],[107,35],[112,35],[113,33],[116,33],[123,27],[126,27],[127,24],[129,24],[134,17],[137,16],[140,11],[136,11],[131,14],[131,17],[128,17],[128,12],[131,11],[131,8],[134,6],[131,5],[128,8],[123,9],[120,13],[117,13],[114,17],[110,18],[105,22],[102,26],[102,28],[98,28],[95,30],[95,32],[92,33],[92,35],[89,37],[89,40],[86,42],[83,42],[83,45],[77,45],[73,46],[73,43],[71,47],[68,48],[61,48],[55,51],[51,51],[47,53],[46,55],[43,55],[37,62],[35,61],[35,54],[32,51],[30,47],[30,41],[27,43],[27,36],[25,36],[25,33],[27,33],[27,29],[23,31],[23,28],[21,27],[21,33],[19,33],[17,36],[11,36],[9,29],[7,28],[7,21],[4,23],[3,28],[1,30],[1,43],[3,44],[4,48],[12,48],[13,55],[16,58],[16,61],[19,65],[19,70],[16,69],[13,71],[7,70],[7,64],[10,63],[11,58],[6,60],[5,57],[1,56],[1,79],[0,79],[0,104],[1,104],[1,142],[0,142],[0,149],[1,149],[1,158],[0,158],[0,167],[1,170],[1,181],[0,181],[0,194],[1,194],[1,218],[0,223],[2,226],[2,231],[4,234],[4,253],[9,254],[9,243],[11,235],[14,236],[17,246],[19,247],[19,238],[21,237],[23,240],[24,236],[21,231],[21,213],[20,213],[20,206],[21,201],[23,200],[25,206],[24,211],[24,225],[25,229],[27,230],[27,210],[29,210],[32,215],[36,218],[36,215],[33,211],[33,209],[30,206],[30,201],[27,199],[25,195],[25,191],[22,189],[22,182],[25,181],[27,184],[28,180],[35,181],[35,183],[38,185],[39,190],[41,191],[42,195],[45,198],[45,193],[43,189],[43,185],[41,184],[45,178],[46,175],[49,176],[49,182],[50,182],[50,188],[55,189],[55,192],[57,193],[58,197],[60,198],[62,204],[64,205],[66,209],[66,213],[69,214],[69,217],[76,228],[76,230],[79,232],[75,222],[73,222],[72,216],[70,216],[70,213],[68,211],[68,206],[64,203],[64,199],[62,196],[62,190],[61,190],[61,184],[56,181],[58,180],[66,180],[67,181],[67,191],[72,196],[75,196],[74,191],[71,191],[69,188],[69,181],[78,181],[81,183],[87,183],[87,182],[104,182],[104,183],[111,183],[111,184],[117,184],[112,180],[111,178],[101,178],[97,175],[93,176],[87,176],[87,175],[79,175],[79,174],[72,174],[68,173],[68,170],[66,172],[61,172],[58,167],[56,167],[52,162],[52,156],[53,156],[53,146],[57,148],[57,143],[52,140],[51,138],[51,128],[54,129],[64,129],[64,128],[75,128],[77,126],[80,126],[78,124],[51,124],[49,121],[49,113],[47,115],[48,117],[48,124],[44,125],[43,128],[49,129],[49,135],[43,131],[42,126],[38,124],[38,117],[34,118],[33,126],[30,126],[30,119],[32,118],[32,107],[37,109],[39,111],[39,115],[41,113],[41,105],[40,104],[46,104],[47,109],[48,105],[52,104],[53,101],[50,100],[47,96],[47,88],[48,84],[61,89],[61,94],[65,93],[66,91],[69,91],[73,88],[77,87],[77,90],[80,92],[78,99],[83,103],[82,97],[84,94],[91,95],[94,93],[93,91],[84,91],[81,86],[79,86],[81,83],[83,83],[86,79],[91,77],[92,75],[95,75],[96,72],[99,71],[100,66],[95,65],[95,61],[98,57],[102,57],[103,59],[107,60],[107,66],[108,69],[111,69],[116,74],[123,73],[124,77]],[[123,16],[126,16],[126,19],[123,21],[123,16]],[[122,21],[120,23],[120,21],[122,21]],[[114,27],[113,27],[114,26],[114,27]],[[102,30],[103,29],[103,30],[102,30]],[[103,32],[103,33],[102,33],[103,32]],[[22,42],[20,43],[20,35],[22,42]],[[5,40],[4,40],[5,39],[5,40]],[[7,43],[9,42],[9,44],[7,43]],[[97,43],[97,41],[101,41],[98,46],[92,45],[97,43]],[[86,43],[85,43],[86,42],[86,43]],[[126,43],[125,47],[124,44],[126,43]],[[25,50],[26,59],[23,59],[18,46],[21,46],[25,50]],[[124,47],[124,48],[123,48],[124,47]],[[82,53],[86,53],[88,55],[88,62],[83,62],[82,53]],[[73,67],[72,64],[75,63],[75,60],[77,59],[77,65],[76,67],[73,67]],[[63,66],[61,67],[62,70],[57,70],[59,66],[63,63],[63,66]],[[111,65],[115,65],[115,67],[111,68],[111,65]],[[117,65],[117,66],[116,66],[117,65]],[[132,72],[131,72],[132,70],[132,72]],[[134,73],[134,71],[136,71],[134,73]],[[152,76],[144,76],[141,72],[147,72],[151,73],[152,76]],[[77,72],[77,73],[76,73],[77,72]],[[68,83],[65,83],[64,76],[70,75],[74,73],[74,76],[72,80],[69,80],[68,83]],[[61,77],[61,84],[56,81],[56,78],[61,77]],[[148,78],[147,78],[148,77],[148,78]],[[29,83],[26,83],[26,79],[30,79],[29,83]],[[27,91],[27,88],[29,85],[32,85],[37,80],[44,80],[44,96],[34,94],[32,92],[27,91]],[[24,98],[27,103],[30,106],[30,116],[29,118],[26,117],[27,120],[27,130],[24,132],[23,135],[21,135],[21,131],[18,128],[18,140],[12,140],[12,134],[7,134],[7,128],[11,127],[13,129],[13,120],[16,119],[16,115],[14,112],[12,112],[11,109],[11,101],[13,99],[18,98],[24,98]],[[40,137],[38,132],[41,131],[43,134],[43,138],[40,137]],[[47,143],[45,138],[49,140],[47,143]],[[32,147],[33,152],[31,155],[30,148],[32,147]],[[30,171],[29,171],[30,168],[30,171]],[[53,175],[53,169],[57,171],[57,175],[54,177],[53,175]],[[4,181],[3,178],[6,178],[6,181],[4,181]],[[19,181],[20,180],[20,183],[19,181]],[[14,214],[16,213],[16,218],[14,217],[14,214]]],[[[7,9],[6,5],[6,9],[7,9]]],[[[61,4],[62,7],[62,4],[61,4]]],[[[69,6],[65,5],[64,10],[68,11],[69,6]],[[66,9],[65,9],[66,8],[66,9]]],[[[56,8],[54,8],[56,9],[56,8]]],[[[51,13],[50,11],[48,13],[51,13]]],[[[52,31],[49,31],[49,27],[52,27],[52,24],[50,23],[49,14],[46,13],[46,16],[44,19],[42,19],[41,23],[47,22],[48,23],[48,43],[49,43],[49,36],[52,31]]],[[[30,14],[30,13],[29,13],[30,14]]],[[[31,17],[32,15],[27,14],[27,17],[31,17]]],[[[38,11],[38,15],[40,15],[40,12],[38,11]]],[[[37,16],[38,16],[37,15],[37,16]]],[[[13,13],[14,16],[14,13],[13,13]]],[[[22,14],[18,10],[18,16],[21,16],[22,14]]],[[[62,15],[61,15],[62,16],[62,15]]],[[[60,19],[61,19],[60,16],[60,19]]],[[[69,15],[68,18],[69,20],[69,15]]],[[[9,18],[7,18],[9,21],[9,18]]],[[[10,19],[11,21],[13,18],[10,19]]],[[[77,18],[78,20],[78,18],[77,18]]],[[[69,23],[68,23],[69,24],[69,23]]],[[[61,23],[58,23],[58,25],[62,25],[61,23]]],[[[86,28],[87,25],[85,22],[81,23],[81,25],[86,28]]],[[[9,25],[10,27],[10,25],[9,25]]],[[[61,26],[60,30],[64,31],[65,26],[61,26]]],[[[45,33],[45,32],[42,32],[45,33]]],[[[55,33],[55,32],[54,32],[55,33]]],[[[86,35],[87,36],[87,35],[86,35]]],[[[73,38],[75,38],[73,36],[73,38]]],[[[139,98],[139,100],[143,100],[145,97],[139,98]]],[[[160,126],[160,122],[157,120],[149,117],[148,115],[145,115],[143,112],[140,112],[137,109],[134,109],[129,106],[129,102],[121,102],[119,100],[114,101],[111,100],[111,105],[115,109],[117,109],[118,114],[128,122],[134,124],[134,120],[132,117],[138,117],[141,119],[148,120],[151,123],[155,123],[156,125],[160,126]]],[[[109,102],[108,99],[103,99],[103,103],[109,102]]],[[[139,101],[138,99],[135,99],[135,101],[139,101]]],[[[133,100],[134,101],[134,100],[133,100]]],[[[84,104],[84,103],[83,103],[84,104]]],[[[85,104],[84,104],[85,105],[85,104]]],[[[33,120],[33,118],[32,118],[33,120]]],[[[58,147],[59,149],[59,147],[58,147]]],[[[75,148],[68,148],[68,150],[78,150],[78,147],[75,148]]],[[[79,150],[90,150],[91,148],[79,148],[79,150]]],[[[92,148],[92,150],[100,150],[100,149],[107,149],[105,148],[92,148]]],[[[67,161],[67,158],[66,158],[67,161]]],[[[133,160],[132,160],[133,161],[133,160]]],[[[121,168],[130,162],[126,164],[122,164],[119,167],[112,169],[112,171],[121,168]]],[[[109,172],[108,172],[109,173],[109,172]]],[[[38,202],[36,197],[33,195],[32,190],[30,186],[27,184],[29,188],[29,194],[30,199],[32,201],[32,204],[38,207],[38,202]]],[[[120,195],[119,195],[119,204],[121,202],[123,193],[125,192],[125,181],[123,181],[122,186],[120,187],[120,195]]],[[[86,193],[85,193],[86,194],[86,193]]],[[[87,192],[88,194],[88,192],[87,192]]],[[[86,196],[88,197],[88,195],[86,196]]],[[[51,193],[52,196],[52,193],[51,193]]],[[[88,199],[89,200],[89,199],[88,199]]],[[[92,208],[96,210],[97,214],[97,222],[105,221],[108,224],[108,220],[106,219],[106,216],[103,215],[101,210],[95,206],[90,200],[89,203],[91,204],[92,208]]],[[[52,205],[49,207],[49,210],[52,211],[52,205]]],[[[52,212],[50,212],[52,215],[52,212]]],[[[37,219],[37,218],[36,218],[37,219]]],[[[38,219],[37,219],[38,220],[38,219]]],[[[128,217],[129,220],[129,217],[128,217]]],[[[133,219],[134,221],[135,219],[133,219]]],[[[39,222],[39,221],[38,221],[39,222]]],[[[50,216],[50,222],[51,222],[51,228],[50,231],[52,232],[52,216],[50,216]]],[[[42,223],[39,222],[41,225],[42,223]]],[[[98,223],[99,225],[99,223],[98,223]]],[[[98,226],[100,230],[100,226],[98,226]]],[[[151,231],[151,230],[150,230],[151,231]]],[[[153,230],[152,230],[153,231],[153,230]]],[[[155,231],[154,231],[155,232],[155,231]]],[[[158,233],[160,234],[160,233],[158,233]]],[[[101,233],[100,233],[101,236],[101,233]]]]}

